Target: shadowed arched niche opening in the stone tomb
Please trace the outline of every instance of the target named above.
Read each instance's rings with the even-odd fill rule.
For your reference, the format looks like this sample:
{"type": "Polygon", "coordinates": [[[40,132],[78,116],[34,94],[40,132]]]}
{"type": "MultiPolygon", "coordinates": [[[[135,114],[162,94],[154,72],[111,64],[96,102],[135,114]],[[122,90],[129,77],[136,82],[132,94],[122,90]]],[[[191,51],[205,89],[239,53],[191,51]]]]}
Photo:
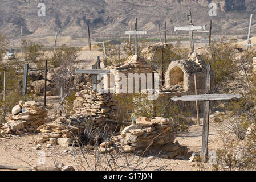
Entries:
{"type": "Polygon", "coordinates": [[[178,68],[174,67],[170,71],[170,86],[172,85],[184,85],[184,72],[178,68]]]}

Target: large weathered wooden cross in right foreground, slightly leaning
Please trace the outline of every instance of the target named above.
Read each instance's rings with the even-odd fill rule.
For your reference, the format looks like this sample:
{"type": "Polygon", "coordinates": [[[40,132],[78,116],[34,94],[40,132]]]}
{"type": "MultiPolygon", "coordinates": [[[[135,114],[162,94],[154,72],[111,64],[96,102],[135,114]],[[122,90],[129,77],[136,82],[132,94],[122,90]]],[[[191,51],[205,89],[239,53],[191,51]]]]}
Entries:
{"type": "Polygon", "coordinates": [[[182,96],[182,97],[173,97],[173,101],[205,101],[204,105],[204,123],[203,123],[203,131],[202,131],[202,152],[201,158],[204,162],[207,160],[208,156],[208,135],[209,135],[209,106],[210,101],[215,100],[230,100],[232,98],[241,98],[241,94],[233,95],[233,94],[210,94],[210,64],[207,65],[207,75],[206,75],[206,83],[205,83],[205,94],[196,95],[196,96],[182,96]]]}

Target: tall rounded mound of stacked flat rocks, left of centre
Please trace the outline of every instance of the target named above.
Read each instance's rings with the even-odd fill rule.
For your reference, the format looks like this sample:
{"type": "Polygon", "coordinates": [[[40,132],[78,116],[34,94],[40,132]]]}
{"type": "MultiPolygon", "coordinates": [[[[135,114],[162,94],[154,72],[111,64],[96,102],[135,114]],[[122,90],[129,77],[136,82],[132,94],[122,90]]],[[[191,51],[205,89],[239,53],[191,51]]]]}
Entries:
{"type": "Polygon", "coordinates": [[[106,119],[118,119],[118,105],[112,94],[99,93],[90,87],[76,93],[73,106],[75,114],[90,118],[96,127],[102,126],[106,119]]]}

